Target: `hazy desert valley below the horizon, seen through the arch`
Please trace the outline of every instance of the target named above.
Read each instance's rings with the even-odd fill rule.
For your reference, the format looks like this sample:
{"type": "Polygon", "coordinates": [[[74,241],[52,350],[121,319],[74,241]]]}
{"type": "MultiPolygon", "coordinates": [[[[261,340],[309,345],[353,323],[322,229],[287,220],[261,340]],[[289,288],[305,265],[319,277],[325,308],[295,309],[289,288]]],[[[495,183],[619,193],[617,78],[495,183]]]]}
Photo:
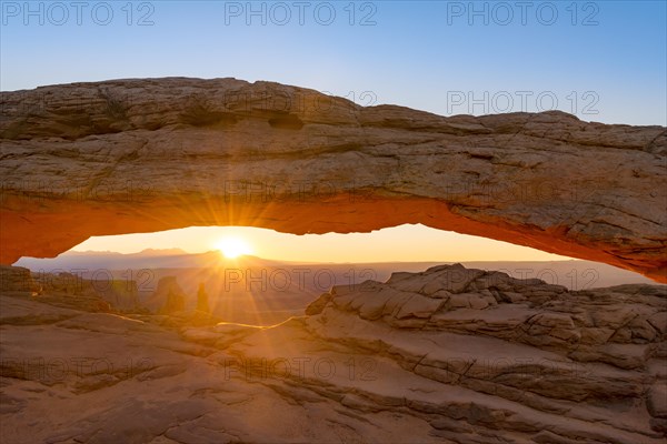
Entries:
{"type": "MultiPolygon", "coordinates": [[[[331,286],[366,280],[384,282],[394,272],[419,272],[439,262],[296,263],[255,256],[226,259],[219,251],[188,254],[181,250],[140,253],[67,252],[54,259],[23,258],[16,265],[31,270],[50,290],[77,295],[83,281],[116,310],[145,307],[158,313],[169,289],[195,310],[203,284],[211,313],[226,322],[271,325],[303,313],[331,286]],[[161,282],[161,284],[160,284],[161,282]],[[136,299],[136,301],[135,301],[136,299]]],[[[590,261],[464,262],[468,268],[501,271],[516,279],[541,279],[570,290],[590,290],[653,281],[626,270],[590,261]]]]}

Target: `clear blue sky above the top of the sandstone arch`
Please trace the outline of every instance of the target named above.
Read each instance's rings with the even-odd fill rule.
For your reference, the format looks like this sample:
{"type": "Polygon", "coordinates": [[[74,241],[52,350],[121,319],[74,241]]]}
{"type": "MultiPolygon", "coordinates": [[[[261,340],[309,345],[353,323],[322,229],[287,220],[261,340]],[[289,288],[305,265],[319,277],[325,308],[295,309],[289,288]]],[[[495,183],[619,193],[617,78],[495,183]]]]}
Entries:
{"type": "Polygon", "coordinates": [[[32,16],[23,1],[1,3],[2,90],[236,77],[446,115],[535,111],[542,94],[542,109],[556,98],[584,120],[667,120],[665,1],[270,1],[252,2],[256,16],[246,1],[91,1],[80,18],[70,1],[30,2],[32,16]]]}

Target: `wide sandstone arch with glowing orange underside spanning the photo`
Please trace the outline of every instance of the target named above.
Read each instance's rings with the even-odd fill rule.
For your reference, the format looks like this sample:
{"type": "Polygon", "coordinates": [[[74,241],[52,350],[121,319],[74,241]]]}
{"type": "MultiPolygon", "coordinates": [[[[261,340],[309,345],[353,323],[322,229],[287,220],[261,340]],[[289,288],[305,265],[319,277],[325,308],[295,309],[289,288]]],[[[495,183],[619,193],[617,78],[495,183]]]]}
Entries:
{"type": "Polygon", "coordinates": [[[664,127],[444,118],[236,79],[52,85],[0,104],[3,264],[192,225],[422,223],[667,282],[664,127]]]}

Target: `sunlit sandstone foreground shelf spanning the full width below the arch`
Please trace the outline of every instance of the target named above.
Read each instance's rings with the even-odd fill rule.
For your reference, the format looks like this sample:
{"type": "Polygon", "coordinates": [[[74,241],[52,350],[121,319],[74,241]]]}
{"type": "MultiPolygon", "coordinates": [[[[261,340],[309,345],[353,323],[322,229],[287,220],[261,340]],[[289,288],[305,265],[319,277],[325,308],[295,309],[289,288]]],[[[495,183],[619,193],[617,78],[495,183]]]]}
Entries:
{"type": "Polygon", "coordinates": [[[661,285],[569,292],[437,266],[336,286],[273,327],[175,327],[26,294],[0,296],[7,443],[667,436],[661,285]]]}

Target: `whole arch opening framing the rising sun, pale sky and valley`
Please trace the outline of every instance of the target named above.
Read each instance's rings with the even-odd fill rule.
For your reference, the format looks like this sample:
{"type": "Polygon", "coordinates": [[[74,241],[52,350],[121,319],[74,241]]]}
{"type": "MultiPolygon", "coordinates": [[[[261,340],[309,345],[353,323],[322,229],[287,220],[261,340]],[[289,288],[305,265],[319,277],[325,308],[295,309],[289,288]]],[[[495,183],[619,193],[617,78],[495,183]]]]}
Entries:
{"type": "Polygon", "coordinates": [[[21,258],[14,265],[29,269],[42,293],[98,297],[115,312],[206,312],[207,322],[273,325],[301,315],[332,287],[455,263],[568,290],[650,283],[607,264],[421,224],[305,235],[192,226],[96,236],[54,259],[21,258]]]}

